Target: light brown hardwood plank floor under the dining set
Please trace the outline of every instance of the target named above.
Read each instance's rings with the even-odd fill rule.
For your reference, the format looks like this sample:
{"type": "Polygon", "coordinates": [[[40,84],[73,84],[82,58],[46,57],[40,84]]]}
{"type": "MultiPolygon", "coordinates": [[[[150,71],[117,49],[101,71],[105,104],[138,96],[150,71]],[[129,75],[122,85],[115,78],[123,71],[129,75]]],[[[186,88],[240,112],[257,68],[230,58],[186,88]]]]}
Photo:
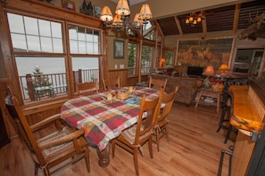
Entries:
{"type": "MultiPolygon", "coordinates": [[[[161,139],[160,152],[153,143],[153,159],[150,158],[147,145],[144,156],[138,155],[140,175],[217,175],[221,149],[234,144],[233,134],[224,144],[225,130],[216,132],[219,123],[216,108],[195,105],[189,108],[174,105],[170,112],[170,142],[161,139]]],[[[0,173],[7,175],[34,175],[34,164],[26,148],[18,138],[0,149],[0,173]]],[[[105,168],[98,165],[95,148],[90,148],[91,172],[86,170],[85,161],[80,160],[55,175],[136,175],[133,157],[127,151],[116,147],[115,157],[105,168]]],[[[39,169],[38,175],[43,175],[39,169]]],[[[228,175],[228,156],[224,159],[222,175],[228,175]]]]}

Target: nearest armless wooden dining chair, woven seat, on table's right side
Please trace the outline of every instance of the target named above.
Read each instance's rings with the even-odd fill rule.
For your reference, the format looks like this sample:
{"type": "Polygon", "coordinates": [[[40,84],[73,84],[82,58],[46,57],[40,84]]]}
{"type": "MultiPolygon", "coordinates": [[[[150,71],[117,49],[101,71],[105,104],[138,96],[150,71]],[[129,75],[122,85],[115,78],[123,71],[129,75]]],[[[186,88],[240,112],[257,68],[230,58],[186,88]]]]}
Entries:
{"type": "Polygon", "coordinates": [[[140,104],[137,124],[121,132],[118,138],[112,140],[112,157],[115,155],[116,144],[121,148],[128,150],[129,153],[133,154],[137,175],[139,175],[137,152],[140,151],[140,154],[143,156],[141,146],[147,141],[150,157],[153,158],[153,125],[161,106],[161,95],[162,90],[159,92],[159,97],[153,100],[145,100],[144,95],[140,104]]]}

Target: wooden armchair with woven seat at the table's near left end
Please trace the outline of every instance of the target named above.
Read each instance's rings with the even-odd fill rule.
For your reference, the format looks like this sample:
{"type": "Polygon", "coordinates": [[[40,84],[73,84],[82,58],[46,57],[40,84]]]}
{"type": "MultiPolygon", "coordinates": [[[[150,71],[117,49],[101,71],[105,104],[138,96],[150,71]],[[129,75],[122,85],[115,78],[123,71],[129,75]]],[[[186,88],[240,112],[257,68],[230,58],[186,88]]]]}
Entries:
{"type": "Polygon", "coordinates": [[[87,172],[90,172],[89,149],[87,140],[83,137],[83,130],[76,130],[63,123],[60,114],[29,125],[28,119],[23,115],[19,101],[12,94],[10,87],[7,87],[7,92],[4,100],[5,106],[12,116],[12,122],[22,142],[29,149],[35,164],[35,175],[37,175],[38,168],[41,168],[48,176],[82,158],[86,159],[87,172]],[[51,130],[52,126],[49,124],[53,125],[53,129],[56,129],[55,132],[51,130]],[[41,132],[39,132],[40,130],[41,132]],[[46,131],[44,132],[44,130],[46,131]],[[44,133],[48,134],[39,137],[44,133]]]}

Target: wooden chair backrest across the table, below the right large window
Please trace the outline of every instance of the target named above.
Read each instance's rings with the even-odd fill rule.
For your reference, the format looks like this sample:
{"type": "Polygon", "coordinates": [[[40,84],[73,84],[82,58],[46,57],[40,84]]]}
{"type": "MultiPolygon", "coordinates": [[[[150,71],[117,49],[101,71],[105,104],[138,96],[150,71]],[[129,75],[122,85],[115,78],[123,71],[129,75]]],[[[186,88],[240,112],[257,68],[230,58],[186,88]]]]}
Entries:
{"type": "Polygon", "coordinates": [[[87,95],[92,92],[98,92],[98,90],[99,90],[99,85],[96,81],[78,84],[79,95],[87,95]]]}

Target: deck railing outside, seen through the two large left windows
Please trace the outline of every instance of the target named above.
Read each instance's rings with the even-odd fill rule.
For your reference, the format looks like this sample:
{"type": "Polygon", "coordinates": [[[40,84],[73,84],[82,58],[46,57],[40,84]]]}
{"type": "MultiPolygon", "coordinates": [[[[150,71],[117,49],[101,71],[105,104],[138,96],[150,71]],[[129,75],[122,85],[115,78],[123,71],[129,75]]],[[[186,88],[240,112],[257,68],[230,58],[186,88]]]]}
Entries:
{"type": "MultiPolygon", "coordinates": [[[[74,87],[76,84],[98,80],[98,69],[79,69],[73,71],[74,87]]],[[[65,73],[37,74],[19,76],[23,100],[41,100],[41,98],[54,98],[58,94],[66,94],[67,79],[65,73]]]]}

